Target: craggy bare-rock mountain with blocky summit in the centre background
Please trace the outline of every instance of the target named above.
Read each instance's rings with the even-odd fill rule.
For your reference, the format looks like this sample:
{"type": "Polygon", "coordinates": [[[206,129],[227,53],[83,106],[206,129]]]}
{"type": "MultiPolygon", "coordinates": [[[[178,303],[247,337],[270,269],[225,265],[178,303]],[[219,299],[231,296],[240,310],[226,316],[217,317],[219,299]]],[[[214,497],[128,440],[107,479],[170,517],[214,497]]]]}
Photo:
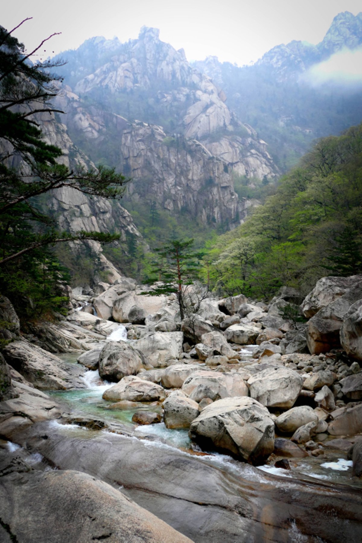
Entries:
{"type": "Polygon", "coordinates": [[[190,66],[183,50],[160,41],[157,29],[143,27],[126,43],[92,38],[62,56],[63,122],[93,161],[131,176],[125,204],[131,199],[144,212],[155,201],[181,222],[227,228],[250,205],[234,191],[234,176],[280,174],[267,144],[227,107],[225,93],[190,66]]]}

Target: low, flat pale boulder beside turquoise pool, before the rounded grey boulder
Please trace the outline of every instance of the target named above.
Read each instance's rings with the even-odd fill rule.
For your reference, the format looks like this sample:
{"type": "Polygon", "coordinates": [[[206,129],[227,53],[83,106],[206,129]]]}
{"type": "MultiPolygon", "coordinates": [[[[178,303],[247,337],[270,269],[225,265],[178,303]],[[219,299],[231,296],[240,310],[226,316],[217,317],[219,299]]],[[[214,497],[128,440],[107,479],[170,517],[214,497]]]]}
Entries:
{"type": "Polygon", "coordinates": [[[105,390],[102,397],[110,401],[153,402],[164,400],[166,393],[159,384],[129,375],[105,390]]]}

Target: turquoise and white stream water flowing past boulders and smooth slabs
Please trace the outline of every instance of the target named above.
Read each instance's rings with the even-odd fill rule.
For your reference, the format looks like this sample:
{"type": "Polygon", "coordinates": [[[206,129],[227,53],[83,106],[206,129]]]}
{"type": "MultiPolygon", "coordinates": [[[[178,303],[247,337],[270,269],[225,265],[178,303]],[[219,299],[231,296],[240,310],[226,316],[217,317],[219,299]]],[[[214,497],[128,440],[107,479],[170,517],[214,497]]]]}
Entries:
{"type": "MultiPolygon", "coordinates": [[[[118,334],[117,337],[122,337],[122,340],[124,340],[123,333],[116,330],[116,334],[118,334]]],[[[245,349],[243,353],[246,363],[247,358],[250,356],[250,351],[250,349],[245,349]]],[[[66,353],[61,358],[64,362],[73,364],[77,362],[78,356],[79,353],[66,353]]],[[[189,454],[200,455],[200,458],[204,459],[205,462],[210,462],[212,458],[213,462],[217,462],[219,465],[226,464],[228,469],[237,472],[238,464],[240,464],[237,460],[215,452],[202,453],[199,447],[193,444],[188,437],[187,430],[169,430],[163,422],[144,426],[138,426],[132,422],[132,416],[136,411],[153,411],[162,414],[160,403],[135,402],[135,405],[132,407],[127,405],[122,409],[111,409],[112,402],[103,400],[102,395],[114,383],[101,380],[98,370],[86,371],[83,379],[87,388],[50,392],[50,395],[60,403],[65,412],[69,413],[72,418],[100,419],[111,427],[112,425],[120,425],[120,433],[124,432],[143,441],[156,442],[160,446],[173,447],[189,454]]],[[[64,425],[63,431],[71,434],[73,437],[77,435],[77,437],[81,437],[82,439],[90,439],[96,434],[99,435],[99,432],[106,432],[105,430],[87,430],[74,424],[64,425]]],[[[335,451],[328,451],[319,457],[289,458],[289,464],[290,470],[275,468],[273,465],[267,464],[258,466],[257,469],[269,475],[295,477],[307,481],[310,478],[314,480],[319,479],[320,481],[345,484],[362,489],[362,482],[356,477],[352,478],[352,462],[346,459],[346,454],[343,452],[336,453],[335,451]]]]}

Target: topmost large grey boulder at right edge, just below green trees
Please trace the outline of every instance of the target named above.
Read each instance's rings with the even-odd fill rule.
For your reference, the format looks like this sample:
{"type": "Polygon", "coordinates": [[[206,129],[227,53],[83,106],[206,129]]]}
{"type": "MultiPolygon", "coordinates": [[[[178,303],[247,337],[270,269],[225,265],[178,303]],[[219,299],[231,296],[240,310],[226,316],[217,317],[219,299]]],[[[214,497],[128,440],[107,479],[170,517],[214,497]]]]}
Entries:
{"type": "MultiPolygon", "coordinates": [[[[304,317],[310,319],[322,307],[332,304],[340,298],[358,282],[362,281],[362,275],[352,275],[351,277],[322,277],[316,282],[312,292],[304,298],[302,302],[302,311],[304,317]]],[[[355,299],[357,300],[357,298],[355,299]]]]}

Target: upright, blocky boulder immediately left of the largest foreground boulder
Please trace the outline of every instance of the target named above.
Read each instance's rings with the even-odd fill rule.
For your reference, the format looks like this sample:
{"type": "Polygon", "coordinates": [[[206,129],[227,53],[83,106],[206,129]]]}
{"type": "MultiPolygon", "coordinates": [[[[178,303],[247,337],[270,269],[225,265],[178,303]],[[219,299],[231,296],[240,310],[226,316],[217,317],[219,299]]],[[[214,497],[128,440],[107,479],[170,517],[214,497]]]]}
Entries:
{"type": "Polygon", "coordinates": [[[163,402],[163,420],[167,428],[189,428],[199,415],[199,404],[177,390],[163,402]]]}

